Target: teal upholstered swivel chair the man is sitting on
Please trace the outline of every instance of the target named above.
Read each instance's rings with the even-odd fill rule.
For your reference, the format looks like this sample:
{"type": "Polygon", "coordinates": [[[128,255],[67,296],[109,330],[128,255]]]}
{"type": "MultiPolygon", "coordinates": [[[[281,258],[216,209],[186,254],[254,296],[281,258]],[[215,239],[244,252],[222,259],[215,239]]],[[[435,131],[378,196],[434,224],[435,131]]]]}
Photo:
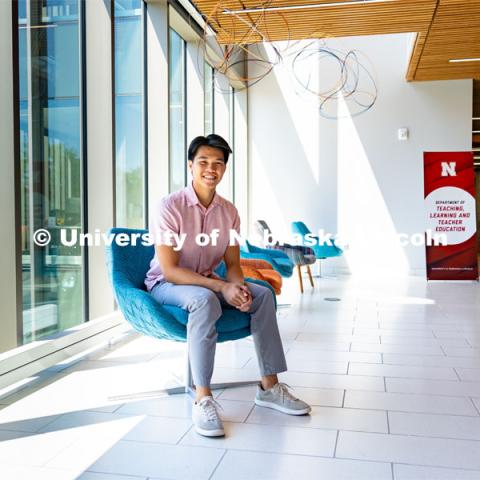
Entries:
{"type": "MultiPolygon", "coordinates": [[[[136,331],[154,338],[185,342],[188,312],[176,306],[159,304],[145,288],[145,276],[155,253],[153,245],[145,246],[141,243],[139,236],[146,233],[148,233],[147,230],[128,228],[113,228],[109,231],[113,241],[106,249],[107,267],[115,299],[125,319],[136,331]],[[128,239],[132,239],[133,235],[137,236],[135,244],[129,241],[127,246],[117,245],[115,237],[120,234],[128,239]]],[[[122,243],[127,242],[122,241],[122,243]]],[[[268,283],[255,279],[248,280],[270,288],[275,299],[273,289],[268,283]]],[[[225,308],[216,326],[218,342],[245,338],[251,333],[250,315],[235,308],[225,308]]],[[[213,384],[212,389],[257,383],[258,381],[213,384]]],[[[169,394],[194,394],[188,353],[186,355],[185,386],[165,391],[169,394]]]]}

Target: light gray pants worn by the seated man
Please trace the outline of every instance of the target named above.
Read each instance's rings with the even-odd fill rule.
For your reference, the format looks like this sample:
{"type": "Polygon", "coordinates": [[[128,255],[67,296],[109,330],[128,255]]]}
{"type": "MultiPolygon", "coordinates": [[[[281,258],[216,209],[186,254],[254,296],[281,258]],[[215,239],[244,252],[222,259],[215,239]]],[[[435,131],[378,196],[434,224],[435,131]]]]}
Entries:
{"type": "MultiPolygon", "coordinates": [[[[273,375],[287,370],[282,340],[278,331],[275,303],[270,289],[247,282],[252,292],[250,329],[260,373],[273,375]]],[[[195,285],[160,282],[152,289],[153,298],[166,305],[175,305],[189,312],[187,343],[195,385],[209,387],[213,374],[217,331],[215,323],[227,304],[221,293],[195,285]]]]}

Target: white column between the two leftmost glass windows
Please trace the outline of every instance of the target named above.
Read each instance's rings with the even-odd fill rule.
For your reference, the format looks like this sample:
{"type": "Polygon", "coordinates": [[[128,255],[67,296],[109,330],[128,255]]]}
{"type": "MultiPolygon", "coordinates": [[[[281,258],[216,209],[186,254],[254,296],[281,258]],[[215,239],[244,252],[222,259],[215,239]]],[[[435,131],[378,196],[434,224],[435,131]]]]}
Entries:
{"type": "MultiPolygon", "coordinates": [[[[86,2],[88,231],[114,225],[112,39],[110,2],[86,2]]],[[[113,311],[104,247],[89,247],[90,319],[113,311]]]]}

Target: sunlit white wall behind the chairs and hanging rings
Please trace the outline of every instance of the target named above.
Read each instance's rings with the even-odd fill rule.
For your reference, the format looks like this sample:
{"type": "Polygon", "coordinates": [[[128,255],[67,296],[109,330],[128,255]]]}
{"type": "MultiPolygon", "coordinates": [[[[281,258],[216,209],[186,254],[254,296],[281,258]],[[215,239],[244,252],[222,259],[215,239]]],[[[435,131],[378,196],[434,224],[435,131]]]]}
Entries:
{"type": "MultiPolygon", "coordinates": [[[[353,118],[340,106],[346,118],[328,120],[311,98],[297,95],[288,61],[250,88],[250,225],[263,218],[285,236],[291,221],[303,220],[312,230],[338,232],[349,249],[327,269],[423,273],[424,247],[400,247],[394,236],[424,231],[423,152],[471,149],[472,82],[407,83],[408,34],[328,46],[366,55],[378,100],[353,118]],[[397,140],[399,127],[410,129],[408,141],[397,140]]],[[[331,62],[315,68],[321,79],[335,74],[331,62]]]]}

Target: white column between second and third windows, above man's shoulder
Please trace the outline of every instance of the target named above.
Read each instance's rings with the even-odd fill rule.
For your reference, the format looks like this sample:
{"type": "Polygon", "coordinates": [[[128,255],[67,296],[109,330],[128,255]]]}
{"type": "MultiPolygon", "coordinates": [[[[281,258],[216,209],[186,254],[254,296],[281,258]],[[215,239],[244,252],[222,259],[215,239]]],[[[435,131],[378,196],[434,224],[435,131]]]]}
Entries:
{"type": "Polygon", "coordinates": [[[148,211],[168,194],[168,4],[147,3],[148,211]]]}

